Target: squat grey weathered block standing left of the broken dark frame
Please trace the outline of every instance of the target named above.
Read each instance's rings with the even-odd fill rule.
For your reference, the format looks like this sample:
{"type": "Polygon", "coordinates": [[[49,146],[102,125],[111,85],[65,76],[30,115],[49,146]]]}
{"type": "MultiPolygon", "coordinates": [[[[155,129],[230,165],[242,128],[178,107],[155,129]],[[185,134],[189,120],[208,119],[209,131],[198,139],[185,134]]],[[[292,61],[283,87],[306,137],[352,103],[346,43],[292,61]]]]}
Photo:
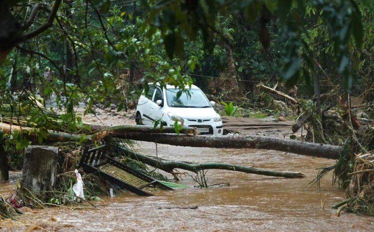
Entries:
{"type": "Polygon", "coordinates": [[[23,184],[32,192],[48,191],[56,179],[58,147],[28,146],[24,150],[23,184]]]}

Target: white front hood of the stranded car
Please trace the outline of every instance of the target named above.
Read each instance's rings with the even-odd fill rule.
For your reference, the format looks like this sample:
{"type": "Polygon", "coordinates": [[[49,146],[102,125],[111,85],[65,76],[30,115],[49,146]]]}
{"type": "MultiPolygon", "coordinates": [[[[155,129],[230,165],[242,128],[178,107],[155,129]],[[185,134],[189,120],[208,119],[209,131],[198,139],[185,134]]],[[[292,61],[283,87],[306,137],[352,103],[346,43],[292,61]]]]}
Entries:
{"type": "Polygon", "coordinates": [[[213,108],[169,108],[168,112],[186,119],[212,119],[217,115],[213,108]]]}

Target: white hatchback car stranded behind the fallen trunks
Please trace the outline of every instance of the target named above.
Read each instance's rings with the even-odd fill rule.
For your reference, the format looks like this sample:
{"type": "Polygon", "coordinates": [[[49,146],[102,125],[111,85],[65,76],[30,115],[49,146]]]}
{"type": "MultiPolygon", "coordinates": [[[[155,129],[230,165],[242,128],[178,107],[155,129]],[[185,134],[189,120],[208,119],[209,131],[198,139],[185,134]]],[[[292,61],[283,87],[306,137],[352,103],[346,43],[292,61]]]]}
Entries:
{"type": "Polygon", "coordinates": [[[156,120],[162,120],[164,126],[173,126],[175,121],[184,126],[197,127],[202,135],[222,135],[223,125],[219,114],[215,112],[214,101],[206,98],[205,94],[195,85],[177,98],[180,89],[167,85],[161,88],[159,84],[149,83],[149,91],[140,96],[135,121],[138,125],[154,125],[156,120]]]}

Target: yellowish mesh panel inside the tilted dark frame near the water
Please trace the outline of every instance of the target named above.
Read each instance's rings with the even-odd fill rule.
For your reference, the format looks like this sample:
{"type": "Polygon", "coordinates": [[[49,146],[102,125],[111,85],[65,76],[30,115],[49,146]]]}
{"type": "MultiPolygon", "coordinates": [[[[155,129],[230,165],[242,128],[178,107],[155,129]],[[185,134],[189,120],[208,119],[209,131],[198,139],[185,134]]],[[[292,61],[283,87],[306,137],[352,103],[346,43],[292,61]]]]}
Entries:
{"type": "Polygon", "coordinates": [[[103,165],[100,167],[100,171],[106,173],[106,174],[109,174],[121,181],[124,181],[132,186],[135,186],[137,188],[140,188],[142,186],[145,186],[148,184],[148,182],[136,177],[136,176],[133,176],[132,174],[130,173],[127,173],[125,172],[124,170],[116,167],[116,166],[113,166],[111,164],[106,164],[106,165],[103,165]]]}

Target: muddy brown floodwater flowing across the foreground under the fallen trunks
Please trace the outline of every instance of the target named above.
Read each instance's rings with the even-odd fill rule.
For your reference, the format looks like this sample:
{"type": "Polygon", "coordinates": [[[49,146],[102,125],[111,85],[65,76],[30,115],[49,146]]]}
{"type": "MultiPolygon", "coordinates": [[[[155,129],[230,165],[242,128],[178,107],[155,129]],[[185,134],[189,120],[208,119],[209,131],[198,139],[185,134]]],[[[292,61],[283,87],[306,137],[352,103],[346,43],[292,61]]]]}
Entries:
{"type": "MultiPolygon", "coordinates": [[[[330,209],[343,200],[343,192],[331,185],[332,176],[321,182],[321,191],[309,182],[316,168],[332,160],[276,151],[252,149],[188,148],[139,143],[138,151],[164,159],[193,162],[227,162],[278,170],[300,171],[307,178],[284,179],[221,170],[207,172],[208,184],[227,187],[198,189],[189,176],[186,189],[157,191],[154,197],[125,194],[94,202],[99,210],[70,211],[64,208],[30,210],[17,221],[0,224],[2,231],[122,232],[122,231],[374,231],[374,218],[330,209]],[[321,201],[326,200],[324,210],[321,201]],[[182,209],[195,207],[197,209],[182,209]]],[[[170,176],[170,175],[169,175],[170,176]]],[[[4,185],[2,185],[4,186],[4,185]]],[[[8,187],[7,187],[8,188],[8,187]]]]}

